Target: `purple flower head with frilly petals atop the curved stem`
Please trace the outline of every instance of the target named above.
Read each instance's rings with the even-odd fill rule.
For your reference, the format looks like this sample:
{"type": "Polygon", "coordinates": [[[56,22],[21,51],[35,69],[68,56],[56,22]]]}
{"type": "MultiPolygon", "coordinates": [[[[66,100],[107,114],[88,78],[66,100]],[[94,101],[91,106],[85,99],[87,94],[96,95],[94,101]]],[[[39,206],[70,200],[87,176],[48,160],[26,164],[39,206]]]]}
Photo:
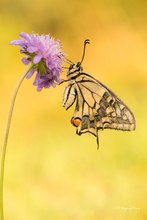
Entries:
{"type": "Polygon", "coordinates": [[[25,65],[33,64],[26,78],[35,72],[33,85],[37,91],[42,88],[55,87],[55,82],[60,82],[64,54],[60,41],[55,41],[50,35],[37,35],[20,33],[20,40],[10,42],[11,45],[20,46],[20,52],[27,57],[22,58],[25,65]]]}

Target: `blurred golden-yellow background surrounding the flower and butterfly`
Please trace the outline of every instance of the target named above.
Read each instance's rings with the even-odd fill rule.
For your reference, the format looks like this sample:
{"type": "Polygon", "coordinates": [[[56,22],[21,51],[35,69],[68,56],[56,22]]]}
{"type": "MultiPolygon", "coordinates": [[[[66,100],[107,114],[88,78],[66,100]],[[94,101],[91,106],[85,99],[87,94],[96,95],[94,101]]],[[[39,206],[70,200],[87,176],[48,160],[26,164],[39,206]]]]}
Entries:
{"type": "MultiPolygon", "coordinates": [[[[147,219],[147,1],[1,0],[0,145],[10,98],[26,71],[20,32],[60,39],[73,62],[90,39],[84,71],[134,112],[134,132],[77,136],[65,111],[65,84],[37,92],[25,80],[17,97],[6,155],[6,220],[147,219]]],[[[65,78],[66,73],[62,74],[65,78]]]]}

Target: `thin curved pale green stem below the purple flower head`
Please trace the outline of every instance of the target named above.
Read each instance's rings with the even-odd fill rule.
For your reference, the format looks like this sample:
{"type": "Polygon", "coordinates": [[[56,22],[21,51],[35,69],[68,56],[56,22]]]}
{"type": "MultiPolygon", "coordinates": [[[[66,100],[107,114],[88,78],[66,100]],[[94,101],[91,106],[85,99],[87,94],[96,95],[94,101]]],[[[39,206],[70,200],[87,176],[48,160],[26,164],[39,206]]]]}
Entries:
{"type": "Polygon", "coordinates": [[[11,119],[12,119],[12,113],[14,109],[14,104],[16,100],[16,96],[18,93],[18,90],[25,79],[26,75],[28,72],[32,69],[33,65],[21,76],[19,79],[16,88],[14,90],[11,102],[10,102],[10,108],[8,112],[8,118],[6,122],[6,130],[5,130],[5,135],[4,135],[4,142],[2,146],[2,155],[1,155],[1,167],[0,167],[0,220],[4,220],[4,210],[3,210],[3,184],[4,184],[4,168],[5,168],[5,157],[6,157],[6,149],[7,149],[7,143],[8,143],[8,136],[9,136],[9,131],[10,131],[10,124],[11,124],[11,119]]]}

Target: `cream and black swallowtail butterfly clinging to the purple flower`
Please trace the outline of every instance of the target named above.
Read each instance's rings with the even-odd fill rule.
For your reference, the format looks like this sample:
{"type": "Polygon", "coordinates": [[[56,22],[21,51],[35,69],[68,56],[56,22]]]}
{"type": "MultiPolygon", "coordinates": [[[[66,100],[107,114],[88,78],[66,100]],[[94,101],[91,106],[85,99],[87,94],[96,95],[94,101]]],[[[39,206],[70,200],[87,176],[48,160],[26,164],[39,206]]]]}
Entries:
{"type": "MultiPolygon", "coordinates": [[[[83,72],[81,66],[85,55],[86,44],[81,62],[70,63],[67,72],[68,82],[63,94],[63,107],[69,109],[75,102],[75,110],[71,124],[76,127],[78,135],[91,133],[96,137],[99,147],[98,131],[103,129],[116,129],[122,131],[135,130],[135,117],[131,110],[110,89],[83,72]]],[[[61,83],[62,83],[61,82],[61,83]]]]}

